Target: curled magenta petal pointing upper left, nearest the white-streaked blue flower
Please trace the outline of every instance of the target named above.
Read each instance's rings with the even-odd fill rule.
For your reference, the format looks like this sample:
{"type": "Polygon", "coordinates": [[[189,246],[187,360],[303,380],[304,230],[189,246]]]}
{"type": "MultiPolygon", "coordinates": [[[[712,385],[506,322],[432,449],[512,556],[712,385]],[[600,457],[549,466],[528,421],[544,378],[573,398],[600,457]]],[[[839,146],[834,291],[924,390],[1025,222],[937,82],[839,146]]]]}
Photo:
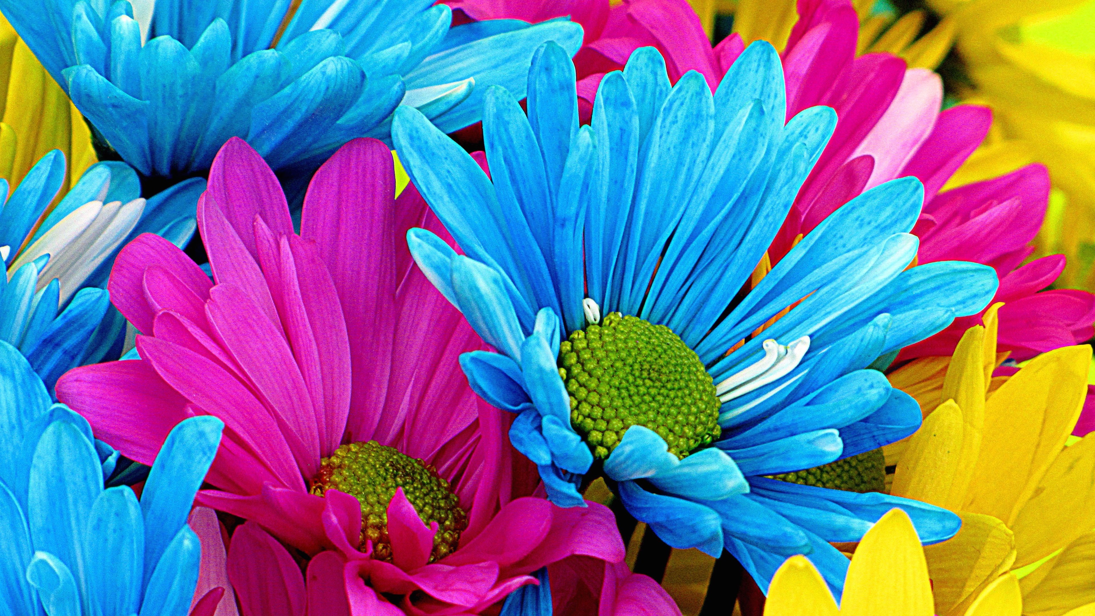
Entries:
{"type": "Polygon", "coordinates": [[[126,244],[114,260],[106,284],[111,301],[141,332],[152,331],[155,310],[145,299],[145,270],[160,265],[173,272],[198,297],[209,295],[212,282],[175,244],[152,233],[141,233],[126,244]]]}

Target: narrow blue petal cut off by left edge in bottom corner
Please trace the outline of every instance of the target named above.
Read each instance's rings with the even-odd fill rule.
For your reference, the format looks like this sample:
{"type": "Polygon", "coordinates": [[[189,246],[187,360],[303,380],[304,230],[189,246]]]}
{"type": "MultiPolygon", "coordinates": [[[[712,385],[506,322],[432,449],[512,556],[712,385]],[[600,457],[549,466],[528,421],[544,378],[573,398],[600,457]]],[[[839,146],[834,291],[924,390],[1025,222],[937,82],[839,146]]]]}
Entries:
{"type": "Polygon", "coordinates": [[[37,615],[41,609],[26,584],[26,566],[33,549],[23,510],[15,495],[0,481],[0,608],[4,614],[37,615]]]}

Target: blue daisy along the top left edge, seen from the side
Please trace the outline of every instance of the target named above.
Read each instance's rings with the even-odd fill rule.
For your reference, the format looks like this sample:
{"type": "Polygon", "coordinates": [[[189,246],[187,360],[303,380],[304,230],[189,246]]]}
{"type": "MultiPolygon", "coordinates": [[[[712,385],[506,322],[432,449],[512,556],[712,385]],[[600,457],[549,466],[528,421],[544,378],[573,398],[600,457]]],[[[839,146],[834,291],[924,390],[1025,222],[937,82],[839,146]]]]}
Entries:
{"type": "Polygon", "coordinates": [[[276,171],[310,171],[355,137],[387,139],[396,105],[452,132],[484,89],[525,95],[535,48],[574,54],[581,26],[450,27],[434,0],[155,3],[148,42],[127,0],[2,0],[0,10],[97,136],[146,176],[208,170],[230,137],[276,171]]]}

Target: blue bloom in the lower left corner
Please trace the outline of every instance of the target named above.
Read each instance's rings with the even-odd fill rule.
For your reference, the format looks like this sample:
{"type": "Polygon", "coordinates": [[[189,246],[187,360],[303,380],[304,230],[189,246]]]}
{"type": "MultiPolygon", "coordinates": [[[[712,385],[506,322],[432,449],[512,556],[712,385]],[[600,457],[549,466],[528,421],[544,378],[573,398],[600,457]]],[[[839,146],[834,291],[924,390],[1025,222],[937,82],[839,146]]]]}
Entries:
{"type": "MultiPolygon", "coordinates": [[[[185,616],[200,557],[186,517],[223,424],[192,418],[172,430],[138,502],[126,486],[104,490],[117,453],[101,456],[88,422],[51,404],[4,342],[0,366],[0,608],[185,616]]],[[[212,614],[219,598],[194,614],[212,614]]]]}

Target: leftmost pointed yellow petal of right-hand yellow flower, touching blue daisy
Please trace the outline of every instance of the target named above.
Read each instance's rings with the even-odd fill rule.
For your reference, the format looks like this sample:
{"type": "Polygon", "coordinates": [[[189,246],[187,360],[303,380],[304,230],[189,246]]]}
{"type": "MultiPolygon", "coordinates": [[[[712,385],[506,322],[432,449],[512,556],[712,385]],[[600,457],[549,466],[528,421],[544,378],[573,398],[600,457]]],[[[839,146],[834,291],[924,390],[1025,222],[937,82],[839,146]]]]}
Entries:
{"type": "Polygon", "coordinates": [[[955,401],[940,404],[909,440],[890,493],[946,506],[961,459],[963,432],[961,410],[955,401]]]}

